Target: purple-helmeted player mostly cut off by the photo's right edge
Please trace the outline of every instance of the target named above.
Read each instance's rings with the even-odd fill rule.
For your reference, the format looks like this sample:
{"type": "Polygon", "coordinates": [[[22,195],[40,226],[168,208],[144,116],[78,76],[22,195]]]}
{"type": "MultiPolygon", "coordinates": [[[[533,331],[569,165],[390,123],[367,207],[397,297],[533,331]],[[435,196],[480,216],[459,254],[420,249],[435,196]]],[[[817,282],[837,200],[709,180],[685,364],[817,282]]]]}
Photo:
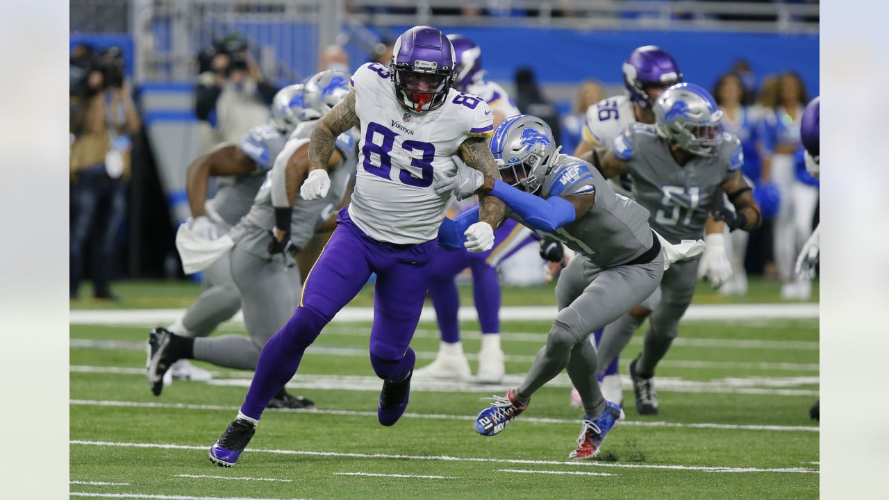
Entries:
{"type": "MultiPolygon", "coordinates": [[[[816,178],[821,176],[821,97],[816,97],[805,106],[803,119],[799,125],[803,146],[805,147],[805,169],[816,178]]],[[[812,236],[803,245],[803,250],[797,256],[797,275],[805,275],[813,279],[818,273],[818,263],[821,261],[821,225],[815,228],[812,236]]],[[[809,408],[809,416],[815,420],[821,419],[819,401],[809,408]]]]}

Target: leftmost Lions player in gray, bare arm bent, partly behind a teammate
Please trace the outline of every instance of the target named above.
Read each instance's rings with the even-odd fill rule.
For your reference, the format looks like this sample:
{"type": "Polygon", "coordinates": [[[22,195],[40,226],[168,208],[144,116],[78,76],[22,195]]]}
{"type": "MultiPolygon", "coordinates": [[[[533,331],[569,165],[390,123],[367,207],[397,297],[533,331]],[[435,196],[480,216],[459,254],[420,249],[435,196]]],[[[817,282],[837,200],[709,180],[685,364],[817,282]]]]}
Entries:
{"type": "MultiPolygon", "coordinates": [[[[288,134],[303,113],[302,85],[278,91],[268,125],[253,127],[238,144],[223,143],[188,165],[186,190],[192,219],[189,229],[207,239],[227,234],[250,210],[260,186],[284,149],[288,134]],[[219,178],[216,195],[207,200],[210,177],[219,178]]],[[[204,270],[203,291],[185,314],[167,327],[178,335],[210,335],[241,309],[241,296],[231,278],[228,254],[204,270]]],[[[170,370],[184,380],[206,380],[210,373],[181,360],[170,370]]]]}

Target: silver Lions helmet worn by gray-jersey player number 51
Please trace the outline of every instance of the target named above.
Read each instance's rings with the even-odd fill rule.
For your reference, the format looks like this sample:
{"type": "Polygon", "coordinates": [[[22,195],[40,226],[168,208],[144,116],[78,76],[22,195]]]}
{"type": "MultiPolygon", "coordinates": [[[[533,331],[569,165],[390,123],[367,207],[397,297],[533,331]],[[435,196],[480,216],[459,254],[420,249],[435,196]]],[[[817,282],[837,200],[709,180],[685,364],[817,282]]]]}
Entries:
{"type": "Polygon", "coordinates": [[[695,155],[711,156],[722,143],[722,117],[722,109],[700,85],[673,85],[654,101],[658,134],[695,155]]]}

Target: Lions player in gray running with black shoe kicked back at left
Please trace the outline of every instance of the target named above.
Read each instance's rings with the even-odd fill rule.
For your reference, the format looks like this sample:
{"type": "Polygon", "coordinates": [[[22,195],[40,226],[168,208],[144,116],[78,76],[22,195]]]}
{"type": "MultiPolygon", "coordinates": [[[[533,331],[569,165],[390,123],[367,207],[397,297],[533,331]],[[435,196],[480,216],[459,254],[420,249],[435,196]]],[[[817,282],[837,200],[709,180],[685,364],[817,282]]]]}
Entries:
{"type": "MultiPolygon", "coordinates": [[[[312,77],[306,84],[307,109],[319,109],[322,116],[348,93],[348,76],[343,85],[321,93],[326,88],[330,71],[312,77]],[[316,84],[320,80],[320,88],[316,84]],[[314,85],[314,86],[313,86],[314,85]],[[312,93],[312,89],[317,92],[312,93]],[[313,101],[313,98],[315,101],[313,101]]],[[[332,214],[346,195],[348,180],[355,173],[355,137],[343,133],[337,140],[337,150],[328,164],[331,190],[325,198],[306,201],[298,198],[301,181],[308,171],[308,138],[317,120],[300,124],[275,160],[268,181],[262,186],[256,202],[241,222],[228,232],[235,241],[229,255],[230,274],[234,279],[244,310],[244,323],[250,338],[241,335],[222,335],[213,338],[189,338],[175,335],[164,329],[152,331],[149,362],[149,380],[163,376],[178,359],[201,359],[221,367],[254,369],[262,346],[275,332],[284,326],[292,315],[300,298],[300,270],[294,255],[314,236],[316,231],[332,225],[332,214]],[[288,196],[289,195],[289,196],[288,196]],[[276,198],[290,200],[292,206],[281,209],[273,206],[276,198]],[[280,217],[286,212],[285,217],[280,217]],[[283,238],[273,234],[272,228],[286,222],[283,238]]],[[[156,391],[158,393],[159,391],[156,391]]],[[[305,407],[286,393],[285,407],[305,407]],[[293,404],[289,404],[293,403],[293,404]]],[[[277,398],[276,399],[281,399],[277,398]]],[[[274,404],[276,399],[272,400],[274,404]]],[[[299,398],[300,400],[304,400],[299,398]]]]}

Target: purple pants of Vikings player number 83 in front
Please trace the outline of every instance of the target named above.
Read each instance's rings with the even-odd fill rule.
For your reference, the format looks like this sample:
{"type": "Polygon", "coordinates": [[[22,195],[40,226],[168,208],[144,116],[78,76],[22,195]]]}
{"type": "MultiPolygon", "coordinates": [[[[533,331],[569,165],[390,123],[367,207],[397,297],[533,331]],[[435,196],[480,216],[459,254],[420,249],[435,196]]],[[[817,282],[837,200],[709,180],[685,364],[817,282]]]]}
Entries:
{"type": "Polygon", "coordinates": [[[309,271],[300,305],[260,352],[256,372],[241,412],[259,419],[262,410],[296,374],[306,348],[333,316],[367,283],[377,279],[373,292],[371,365],[384,380],[401,380],[413,369],[408,347],[420,320],[428,288],[429,258],[436,241],[394,245],[376,241],[340,210],[337,229],[309,271]]]}

